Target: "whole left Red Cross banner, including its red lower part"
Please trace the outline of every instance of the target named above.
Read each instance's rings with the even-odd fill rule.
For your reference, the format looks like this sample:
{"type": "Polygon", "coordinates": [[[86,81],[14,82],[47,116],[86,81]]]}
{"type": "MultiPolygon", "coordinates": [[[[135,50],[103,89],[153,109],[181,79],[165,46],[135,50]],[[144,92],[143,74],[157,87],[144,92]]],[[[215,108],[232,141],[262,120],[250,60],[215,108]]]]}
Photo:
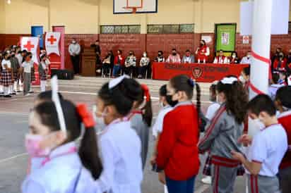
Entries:
{"type": "Polygon", "coordinates": [[[40,75],[38,74],[38,64],[40,58],[40,38],[39,37],[20,37],[21,50],[27,50],[32,53],[32,61],[34,62],[35,81],[32,85],[40,85],[40,75]]]}

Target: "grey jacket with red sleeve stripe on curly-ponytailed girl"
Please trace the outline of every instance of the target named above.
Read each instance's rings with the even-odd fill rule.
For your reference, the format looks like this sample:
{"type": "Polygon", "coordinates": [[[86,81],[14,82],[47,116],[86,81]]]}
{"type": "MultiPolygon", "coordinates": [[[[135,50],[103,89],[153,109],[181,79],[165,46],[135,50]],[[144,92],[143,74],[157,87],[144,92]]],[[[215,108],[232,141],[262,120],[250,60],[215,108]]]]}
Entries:
{"type": "Polygon", "coordinates": [[[210,150],[215,165],[237,167],[239,162],[232,158],[231,151],[242,152],[237,139],[242,136],[244,124],[237,123],[234,116],[227,113],[225,104],[222,104],[206,127],[206,134],[198,144],[199,151],[203,153],[210,150]]]}

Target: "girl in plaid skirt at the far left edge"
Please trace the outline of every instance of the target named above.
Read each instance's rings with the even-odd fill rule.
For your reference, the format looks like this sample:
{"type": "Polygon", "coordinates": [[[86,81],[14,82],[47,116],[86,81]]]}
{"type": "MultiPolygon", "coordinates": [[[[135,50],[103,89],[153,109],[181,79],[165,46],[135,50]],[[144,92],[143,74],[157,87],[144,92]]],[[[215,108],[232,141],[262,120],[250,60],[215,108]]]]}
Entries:
{"type": "Polygon", "coordinates": [[[4,58],[1,61],[2,73],[1,83],[4,86],[4,97],[11,98],[11,85],[12,85],[12,73],[11,73],[11,61],[10,54],[6,51],[4,58]]]}

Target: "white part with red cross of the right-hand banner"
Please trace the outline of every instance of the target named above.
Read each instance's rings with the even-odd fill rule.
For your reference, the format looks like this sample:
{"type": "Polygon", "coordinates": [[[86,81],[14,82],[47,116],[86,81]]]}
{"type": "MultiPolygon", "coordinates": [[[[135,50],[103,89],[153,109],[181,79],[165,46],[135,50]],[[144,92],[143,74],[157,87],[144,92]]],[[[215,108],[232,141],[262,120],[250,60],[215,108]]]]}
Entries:
{"type": "Polygon", "coordinates": [[[60,32],[47,32],[45,35],[45,49],[47,50],[47,55],[49,54],[59,54],[59,40],[61,39],[60,32]]]}

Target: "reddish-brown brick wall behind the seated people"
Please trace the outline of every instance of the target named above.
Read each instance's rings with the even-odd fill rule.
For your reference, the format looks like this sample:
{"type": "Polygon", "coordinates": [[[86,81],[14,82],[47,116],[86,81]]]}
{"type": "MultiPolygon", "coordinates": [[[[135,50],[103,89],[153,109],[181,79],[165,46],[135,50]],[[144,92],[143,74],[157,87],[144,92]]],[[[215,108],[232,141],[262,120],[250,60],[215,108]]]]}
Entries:
{"type": "MultiPolygon", "coordinates": [[[[117,49],[124,52],[127,56],[130,50],[133,50],[137,58],[141,58],[143,51],[148,51],[150,58],[155,58],[159,50],[164,51],[165,56],[170,54],[172,48],[176,48],[179,54],[183,55],[186,49],[196,51],[199,45],[201,35],[209,35],[213,41],[208,44],[210,47],[209,61],[213,61],[214,56],[214,38],[213,33],[196,33],[196,34],[173,34],[173,35],[65,35],[65,67],[71,69],[71,59],[69,57],[68,47],[71,40],[75,37],[80,42],[82,48],[89,47],[96,39],[100,39],[100,46],[102,49],[102,56],[107,54],[107,51],[112,50],[116,54],[117,49]]],[[[8,45],[17,44],[20,36],[30,35],[0,35],[0,49],[8,45]]],[[[283,48],[285,54],[291,49],[291,33],[288,35],[272,35],[271,37],[271,51],[275,51],[277,47],[283,48]]],[[[251,37],[249,44],[242,44],[242,36],[237,34],[236,50],[239,57],[246,54],[251,49],[251,37]]]]}

